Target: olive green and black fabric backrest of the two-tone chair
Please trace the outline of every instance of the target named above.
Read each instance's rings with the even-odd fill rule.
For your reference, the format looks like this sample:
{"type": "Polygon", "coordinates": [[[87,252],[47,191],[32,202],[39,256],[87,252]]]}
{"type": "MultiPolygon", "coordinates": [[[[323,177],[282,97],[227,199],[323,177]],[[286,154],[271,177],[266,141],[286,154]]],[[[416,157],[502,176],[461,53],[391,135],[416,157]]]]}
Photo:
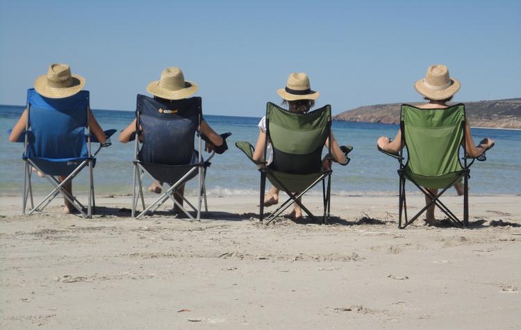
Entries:
{"type": "Polygon", "coordinates": [[[331,106],[300,114],[269,102],[266,128],[273,147],[270,168],[292,174],[320,172],[322,148],[331,131],[331,106]]]}

